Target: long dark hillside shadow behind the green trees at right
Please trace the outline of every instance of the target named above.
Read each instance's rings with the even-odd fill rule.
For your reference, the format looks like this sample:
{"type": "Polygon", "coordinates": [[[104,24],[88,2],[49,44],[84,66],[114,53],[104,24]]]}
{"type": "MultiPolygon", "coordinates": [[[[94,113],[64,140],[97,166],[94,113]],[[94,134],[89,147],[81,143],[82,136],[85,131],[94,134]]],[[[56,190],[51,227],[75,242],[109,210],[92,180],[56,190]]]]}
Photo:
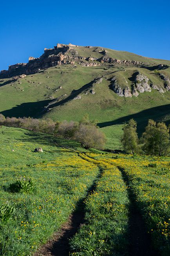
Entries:
{"type": "Polygon", "coordinates": [[[170,104],[158,106],[154,108],[149,108],[146,110],[143,110],[141,112],[138,112],[136,114],[127,115],[125,117],[120,117],[116,120],[109,121],[109,122],[101,122],[98,123],[98,126],[100,128],[105,126],[111,126],[115,124],[123,124],[124,122],[129,121],[130,119],[136,120],[138,124],[138,130],[137,132],[141,134],[143,132],[145,126],[148,123],[148,119],[154,119],[155,121],[162,121],[163,118],[165,118],[167,115],[167,120],[163,120],[166,124],[170,124],[170,104]]]}

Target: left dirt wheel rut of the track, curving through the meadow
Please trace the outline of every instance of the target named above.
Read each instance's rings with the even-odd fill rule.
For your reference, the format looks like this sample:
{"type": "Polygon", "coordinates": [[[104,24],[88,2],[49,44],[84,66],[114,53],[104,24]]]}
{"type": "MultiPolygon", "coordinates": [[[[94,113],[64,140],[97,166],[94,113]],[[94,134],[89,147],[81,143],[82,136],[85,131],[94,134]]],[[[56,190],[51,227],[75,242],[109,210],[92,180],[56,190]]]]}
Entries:
{"type": "Polygon", "coordinates": [[[92,191],[95,191],[96,182],[100,179],[102,170],[99,169],[99,174],[89,188],[87,195],[78,201],[76,210],[69,216],[67,223],[61,226],[61,230],[54,237],[43,245],[34,256],[69,256],[71,248],[69,239],[71,239],[78,231],[80,226],[85,223],[85,204],[84,200],[92,191]]]}

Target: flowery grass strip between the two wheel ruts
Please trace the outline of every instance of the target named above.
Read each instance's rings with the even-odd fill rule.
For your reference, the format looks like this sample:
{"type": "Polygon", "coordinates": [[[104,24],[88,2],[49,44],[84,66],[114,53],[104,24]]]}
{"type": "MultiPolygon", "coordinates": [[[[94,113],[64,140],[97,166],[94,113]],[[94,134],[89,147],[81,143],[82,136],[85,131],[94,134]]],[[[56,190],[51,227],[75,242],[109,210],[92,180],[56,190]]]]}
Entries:
{"type": "Polygon", "coordinates": [[[90,155],[81,158],[99,166],[101,178],[85,200],[85,224],[70,242],[71,255],[127,255],[128,196],[118,168],[90,155]]]}

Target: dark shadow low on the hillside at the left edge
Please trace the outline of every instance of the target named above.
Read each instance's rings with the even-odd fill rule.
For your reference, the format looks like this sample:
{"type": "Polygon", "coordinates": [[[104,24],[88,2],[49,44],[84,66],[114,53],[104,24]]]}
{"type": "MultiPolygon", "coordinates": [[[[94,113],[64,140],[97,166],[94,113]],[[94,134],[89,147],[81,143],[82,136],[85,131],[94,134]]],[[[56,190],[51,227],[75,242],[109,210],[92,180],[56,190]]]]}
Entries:
{"type": "Polygon", "coordinates": [[[52,100],[41,100],[22,103],[11,109],[1,111],[0,114],[5,117],[36,117],[51,101],[52,100]]]}

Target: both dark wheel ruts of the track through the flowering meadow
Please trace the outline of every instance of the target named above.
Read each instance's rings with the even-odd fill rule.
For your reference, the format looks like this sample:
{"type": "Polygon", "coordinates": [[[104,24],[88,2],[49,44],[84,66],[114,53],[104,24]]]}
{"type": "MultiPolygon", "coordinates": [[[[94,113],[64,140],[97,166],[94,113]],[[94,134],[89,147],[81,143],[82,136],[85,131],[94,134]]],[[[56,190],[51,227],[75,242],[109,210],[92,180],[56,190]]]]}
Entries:
{"type": "MultiPolygon", "coordinates": [[[[71,214],[67,223],[65,223],[59,234],[54,236],[54,239],[50,240],[47,245],[43,246],[36,254],[37,255],[62,255],[69,256],[71,252],[70,248],[70,239],[74,237],[74,235],[79,231],[82,224],[86,224],[85,219],[85,201],[89,197],[91,193],[93,193],[96,189],[96,186],[104,172],[105,168],[113,166],[113,163],[110,163],[109,160],[96,160],[90,157],[90,154],[79,154],[79,156],[86,161],[94,163],[99,168],[99,174],[94,180],[92,186],[89,188],[86,197],[84,197],[81,201],[78,202],[76,210],[71,214]]],[[[111,167],[112,168],[112,167],[111,167]]],[[[118,167],[117,167],[118,168],[118,167]]],[[[127,195],[129,200],[129,231],[128,231],[128,242],[127,242],[127,251],[122,255],[130,255],[130,256],[157,256],[157,252],[153,250],[151,247],[150,237],[146,233],[145,223],[142,219],[142,216],[137,210],[136,207],[136,197],[133,193],[132,189],[129,187],[128,176],[123,171],[123,169],[119,168],[119,171],[122,176],[122,180],[127,186],[127,195]]],[[[88,224],[88,223],[87,223],[88,224]]],[[[112,248],[114,252],[114,248],[112,248]]],[[[115,253],[115,252],[114,252],[115,253]]],[[[84,254],[83,254],[84,255],[84,254]]],[[[89,255],[89,254],[88,254],[89,255]]],[[[104,254],[102,254],[104,255],[104,254]]],[[[108,254],[112,255],[112,254],[108,254]]],[[[115,255],[115,254],[114,254],[115,255]]],[[[116,254],[117,255],[117,254],[116,254]]],[[[119,255],[119,254],[118,254],[119,255]]]]}

